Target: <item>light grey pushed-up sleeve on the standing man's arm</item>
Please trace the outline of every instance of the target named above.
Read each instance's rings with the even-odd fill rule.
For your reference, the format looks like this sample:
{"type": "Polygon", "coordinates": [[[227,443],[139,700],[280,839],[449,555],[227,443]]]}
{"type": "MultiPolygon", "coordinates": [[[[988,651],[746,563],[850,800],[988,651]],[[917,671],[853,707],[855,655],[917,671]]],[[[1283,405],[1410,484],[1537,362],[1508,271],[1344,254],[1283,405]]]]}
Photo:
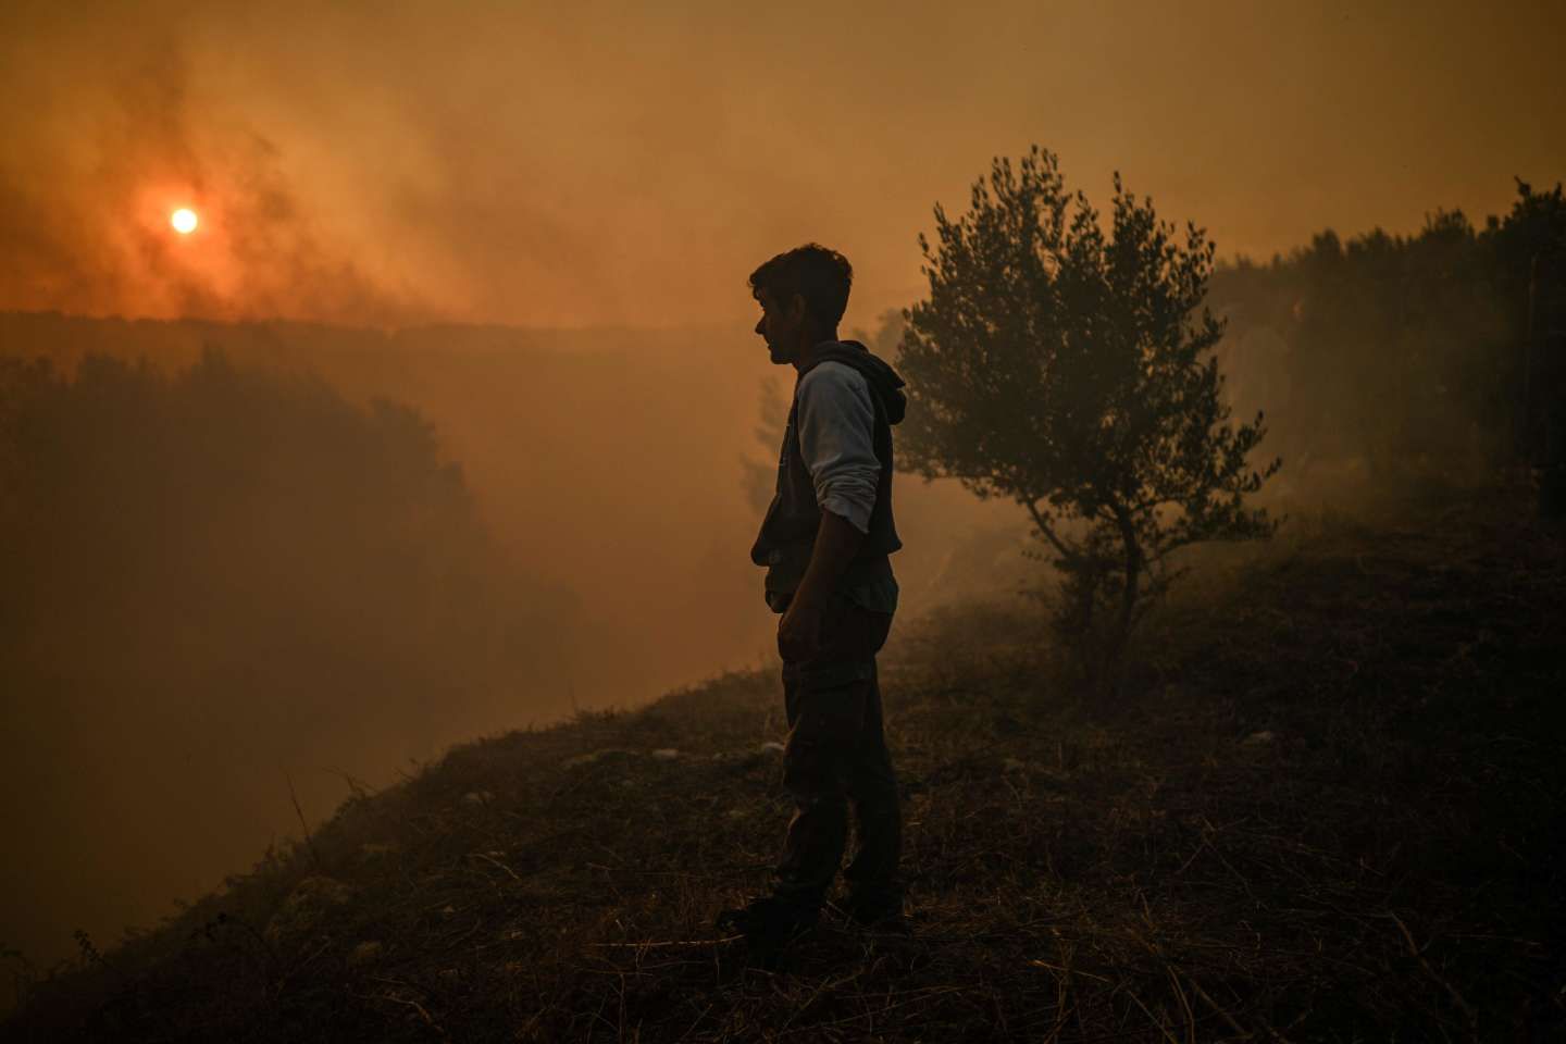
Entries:
{"type": "Polygon", "coordinates": [[[816,485],[816,504],[868,534],[880,462],[864,376],[843,363],[821,363],[800,377],[797,396],[799,449],[816,485]]]}

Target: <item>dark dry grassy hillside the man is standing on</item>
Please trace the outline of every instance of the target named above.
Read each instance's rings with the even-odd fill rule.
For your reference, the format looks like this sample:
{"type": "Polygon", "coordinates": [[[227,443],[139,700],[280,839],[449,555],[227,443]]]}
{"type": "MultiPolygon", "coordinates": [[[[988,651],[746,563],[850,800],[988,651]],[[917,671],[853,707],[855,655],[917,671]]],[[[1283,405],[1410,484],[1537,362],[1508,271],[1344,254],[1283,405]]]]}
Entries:
{"type": "Polygon", "coordinates": [[[1497,491],[1203,565],[1115,707],[1016,606],[899,623],[911,938],[703,942],[788,812],[778,684],[725,675],[357,795],[9,1035],[1561,1039],[1561,534],[1497,491]]]}

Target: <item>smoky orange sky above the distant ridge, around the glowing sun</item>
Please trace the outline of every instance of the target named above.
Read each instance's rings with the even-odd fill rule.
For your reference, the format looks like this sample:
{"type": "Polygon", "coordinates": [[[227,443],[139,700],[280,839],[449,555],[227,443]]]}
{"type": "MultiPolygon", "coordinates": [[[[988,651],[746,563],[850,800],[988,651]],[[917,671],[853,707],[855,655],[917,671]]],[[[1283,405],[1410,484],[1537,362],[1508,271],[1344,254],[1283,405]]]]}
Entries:
{"type": "Polygon", "coordinates": [[[814,238],[868,324],[1030,142],[1265,257],[1566,175],[1561,39],[1558,2],[11,0],[0,307],[731,321],[814,238]]]}

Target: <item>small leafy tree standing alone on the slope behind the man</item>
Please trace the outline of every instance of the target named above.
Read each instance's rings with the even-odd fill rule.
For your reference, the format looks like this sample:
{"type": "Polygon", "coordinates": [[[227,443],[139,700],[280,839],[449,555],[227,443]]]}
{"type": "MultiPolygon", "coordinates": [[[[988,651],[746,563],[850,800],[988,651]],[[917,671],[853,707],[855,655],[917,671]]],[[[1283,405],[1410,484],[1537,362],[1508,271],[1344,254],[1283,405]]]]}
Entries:
{"type": "Polygon", "coordinates": [[[1107,684],[1173,551],[1275,529],[1247,496],[1279,462],[1250,468],[1262,416],[1228,423],[1211,355],[1214,246],[1195,225],[1178,241],[1118,174],[1106,233],[1037,146],[1016,166],[996,158],[969,211],[936,205],[935,225],[933,249],[919,236],[929,299],[902,341],[899,452],[1029,512],[1063,574],[1057,623],[1107,684]]]}

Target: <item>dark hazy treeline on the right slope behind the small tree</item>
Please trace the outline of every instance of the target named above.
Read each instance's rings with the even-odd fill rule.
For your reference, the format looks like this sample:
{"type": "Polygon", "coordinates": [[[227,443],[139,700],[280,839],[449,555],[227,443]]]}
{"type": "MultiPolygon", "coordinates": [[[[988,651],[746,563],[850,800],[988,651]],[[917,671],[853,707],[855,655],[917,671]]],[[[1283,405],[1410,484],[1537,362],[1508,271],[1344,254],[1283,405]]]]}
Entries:
{"type": "Polygon", "coordinates": [[[1353,463],[1474,477],[1561,460],[1566,199],[1519,183],[1483,227],[1436,211],[1411,236],[1333,232],[1267,265],[1220,268],[1221,365],[1265,410],[1281,477],[1353,463]],[[1323,468],[1325,465],[1325,468],[1323,468]]]}

